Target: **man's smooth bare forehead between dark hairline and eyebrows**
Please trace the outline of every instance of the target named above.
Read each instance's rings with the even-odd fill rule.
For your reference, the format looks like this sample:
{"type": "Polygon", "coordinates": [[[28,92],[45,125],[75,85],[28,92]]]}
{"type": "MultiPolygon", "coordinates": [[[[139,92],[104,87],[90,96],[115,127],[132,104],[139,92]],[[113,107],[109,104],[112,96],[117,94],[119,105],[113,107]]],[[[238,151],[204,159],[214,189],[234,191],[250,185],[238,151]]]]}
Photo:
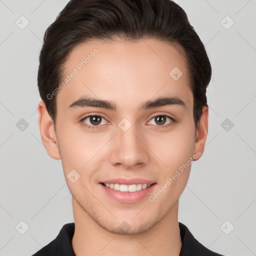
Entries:
{"type": "Polygon", "coordinates": [[[66,58],[61,82],[57,105],[61,102],[66,109],[82,95],[123,107],[164,94],[192,104],[182,47],[156,39],[92,40],[76,45],[66,58]]]}

